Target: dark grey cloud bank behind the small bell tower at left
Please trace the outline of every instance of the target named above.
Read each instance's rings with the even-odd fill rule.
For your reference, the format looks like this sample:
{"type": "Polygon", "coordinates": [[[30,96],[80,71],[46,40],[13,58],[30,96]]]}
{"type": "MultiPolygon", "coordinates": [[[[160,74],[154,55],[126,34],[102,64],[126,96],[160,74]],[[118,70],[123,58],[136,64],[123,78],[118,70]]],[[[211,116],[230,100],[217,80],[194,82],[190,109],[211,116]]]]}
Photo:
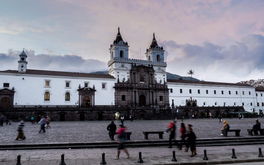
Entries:
{"type": "MultiPolygon", "coordinates": [[[[25,50],[27,54],[27,68],[40,70],[56,70],[78,72],[82,70],[86,73],[95,71],[105,71],[109,68],[107,64],[100,60],[83,59],[78,55],[50,55],[37,54],[34,50],[25,50]]],[[[0,70],[17,69],[20,51],[8,50],[7,54],[0,53],[1,63],[0,70]]]]}

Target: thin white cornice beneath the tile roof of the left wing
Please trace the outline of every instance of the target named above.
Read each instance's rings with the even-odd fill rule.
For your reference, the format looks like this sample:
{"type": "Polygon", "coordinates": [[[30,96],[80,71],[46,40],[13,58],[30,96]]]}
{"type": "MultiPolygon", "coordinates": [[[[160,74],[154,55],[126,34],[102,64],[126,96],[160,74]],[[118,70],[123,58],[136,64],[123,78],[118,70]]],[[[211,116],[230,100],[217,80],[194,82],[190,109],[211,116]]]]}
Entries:
{"type": "Polygon", "coordinates": [[[104,81],[115,81],[113,78],[90,78],[90,77],[70,77],[70,76],[48,76],[48,75],[37,75],[37,74],[17,74],[17,73],[1,73],[0,75],[6,76],[22,76],[22,77],[43,77],[43,78],[65,78],[65,79],[85,79],[85,80],[104,80],[104,81]]]}

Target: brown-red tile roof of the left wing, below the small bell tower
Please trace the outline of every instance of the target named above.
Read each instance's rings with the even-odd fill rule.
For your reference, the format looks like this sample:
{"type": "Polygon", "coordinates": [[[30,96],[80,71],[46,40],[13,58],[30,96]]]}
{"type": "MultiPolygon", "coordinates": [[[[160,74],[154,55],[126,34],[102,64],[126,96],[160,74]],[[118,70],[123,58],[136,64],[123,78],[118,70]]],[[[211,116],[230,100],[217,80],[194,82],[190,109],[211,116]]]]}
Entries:
{"type": "Polygon", "coordinates": [[[78,73],[78,72],[61,72],[50,70],[35,70],[27,69],[25,73],[18,72],[18,70],[3,70],[1,73],[15,73],[15,74],[37,74],[46,76],[67,76],[67,77],[91,77],[91,78],[111,78],[115,79],[110,74],[92,74],[92,73],[78,73]]]}

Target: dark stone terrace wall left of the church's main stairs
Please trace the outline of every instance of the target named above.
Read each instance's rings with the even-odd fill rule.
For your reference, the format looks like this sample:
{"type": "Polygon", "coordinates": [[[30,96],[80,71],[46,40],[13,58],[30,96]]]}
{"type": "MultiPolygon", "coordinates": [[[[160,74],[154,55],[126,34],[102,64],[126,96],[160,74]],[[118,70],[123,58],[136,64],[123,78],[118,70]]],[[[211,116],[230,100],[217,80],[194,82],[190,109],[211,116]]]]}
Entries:
{"type": "Polygon", "coordinates": [[[12,120],[22,118],[30,121],[33,116],[37,121],[42,115],[48,115],[52,121],[79,121],[79,120],[114,120],[116,113],[129,120],[129,116],[133,115],[135,120],[148,119],[155,114],[155,110],[151,107],[88,107],[88,108],[1,108],[0,115],[12,117],[12,120]]]}

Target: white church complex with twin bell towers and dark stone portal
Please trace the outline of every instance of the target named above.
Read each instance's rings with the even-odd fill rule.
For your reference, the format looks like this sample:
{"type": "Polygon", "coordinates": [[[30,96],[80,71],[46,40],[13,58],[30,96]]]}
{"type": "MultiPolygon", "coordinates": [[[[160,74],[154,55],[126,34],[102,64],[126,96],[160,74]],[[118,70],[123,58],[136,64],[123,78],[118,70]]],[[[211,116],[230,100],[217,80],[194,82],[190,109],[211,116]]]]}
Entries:
{"type": "MultiPolygon", "coordinates": [[[[129,58],[129,44],[119,28],[109,50],[108,74],[27,69],[27,55],[22,51],[18,70],[0,71],[0,107],[104,107],[104,113],[107,107],[150,107],[136,110],[150,116],[156,113],[154,106],[169,109],[174,100],[175,106],[239,106],[249,112],[263,111],[261,87],[167,79],[165,50],[154,34],[145,60],[129,58]]],[[[126,116],[132,112],[128,111],[126,116]]],[[[116,114],[114,109],[111,113],[116,114]]]]}

